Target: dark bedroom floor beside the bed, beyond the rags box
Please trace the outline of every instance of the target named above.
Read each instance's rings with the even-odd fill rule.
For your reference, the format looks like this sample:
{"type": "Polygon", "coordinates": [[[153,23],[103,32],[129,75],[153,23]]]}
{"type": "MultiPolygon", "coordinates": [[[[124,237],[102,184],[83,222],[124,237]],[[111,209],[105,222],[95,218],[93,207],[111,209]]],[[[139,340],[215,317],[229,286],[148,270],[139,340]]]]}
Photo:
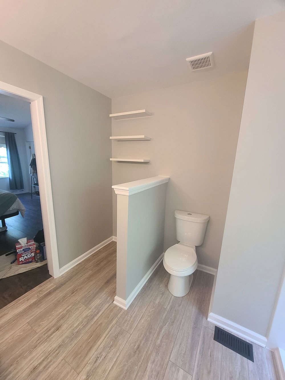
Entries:
{"type": "Polygon", "coordinates": [[[0,256],[14,249],[21,237],[33,239],[38,230],[43,228],[40,198],[33,196],[31,199],[30,193],[17,194],[17,197],[26,208],[25,217],[19,214],[6,219],[7,230],[0,233],[0,256]]]}

